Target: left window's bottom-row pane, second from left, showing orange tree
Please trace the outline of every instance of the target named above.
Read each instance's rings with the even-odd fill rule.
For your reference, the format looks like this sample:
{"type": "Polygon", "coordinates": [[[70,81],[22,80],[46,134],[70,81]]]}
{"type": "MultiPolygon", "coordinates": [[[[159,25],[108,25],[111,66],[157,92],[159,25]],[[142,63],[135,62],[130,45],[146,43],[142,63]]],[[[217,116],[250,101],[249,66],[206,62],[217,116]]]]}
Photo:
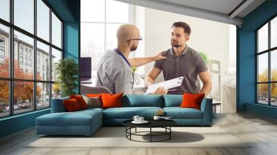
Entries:
{"type": "Polygon", "coordinates": [[[34,109],[33,82],[14,82],[14,105],[15,113],[24,113],[34,109]]]}

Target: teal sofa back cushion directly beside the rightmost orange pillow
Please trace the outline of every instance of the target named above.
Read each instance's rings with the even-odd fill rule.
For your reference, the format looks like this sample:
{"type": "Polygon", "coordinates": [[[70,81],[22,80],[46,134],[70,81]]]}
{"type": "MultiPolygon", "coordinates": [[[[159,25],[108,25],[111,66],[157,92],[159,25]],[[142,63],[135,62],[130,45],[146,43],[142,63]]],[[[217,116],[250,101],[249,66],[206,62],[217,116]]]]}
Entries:
{"type": "Polygon", "coordinates": [[[163,107],[180,107],[183,95],[163,95],[163,107]]]}

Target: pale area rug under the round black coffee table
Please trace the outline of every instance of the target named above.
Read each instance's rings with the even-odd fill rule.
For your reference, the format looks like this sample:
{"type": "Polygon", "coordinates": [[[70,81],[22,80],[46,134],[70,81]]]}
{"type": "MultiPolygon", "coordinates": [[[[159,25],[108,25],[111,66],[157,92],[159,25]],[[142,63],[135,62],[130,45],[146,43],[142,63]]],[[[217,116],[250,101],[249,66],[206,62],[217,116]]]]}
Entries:
{"type": "MultiPolygon", "coordinates": [[[[161,129],[156,129],[159,131],[161,129]]],[[[133,130],[134,131],[134,130],[133,130]]],[[[137,131],[149,131],[140,128],[137,131]]],[[[38,148],[87,148],[87,147],[249,147],[219,127],[172,127],[170,140],[142,143],[128,140],[125,127],[101,127],[92,136],[39,136],[25,147],[38,148]]],[[[150,140],[150,136],[132,136],[134,140],[150,140]]],[[[154,140],[166,138],[155,136],[154,140]]]]}

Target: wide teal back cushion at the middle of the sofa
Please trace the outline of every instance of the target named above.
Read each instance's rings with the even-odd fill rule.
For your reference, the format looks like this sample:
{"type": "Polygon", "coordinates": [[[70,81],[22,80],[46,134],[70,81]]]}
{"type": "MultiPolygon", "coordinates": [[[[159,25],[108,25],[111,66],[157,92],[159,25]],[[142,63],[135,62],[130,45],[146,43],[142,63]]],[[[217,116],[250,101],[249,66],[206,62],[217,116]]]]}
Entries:
{"type": "Polygon", "coordinates": [[[163,107],[162,95],[125,95],[123,107],[163,107]]]}

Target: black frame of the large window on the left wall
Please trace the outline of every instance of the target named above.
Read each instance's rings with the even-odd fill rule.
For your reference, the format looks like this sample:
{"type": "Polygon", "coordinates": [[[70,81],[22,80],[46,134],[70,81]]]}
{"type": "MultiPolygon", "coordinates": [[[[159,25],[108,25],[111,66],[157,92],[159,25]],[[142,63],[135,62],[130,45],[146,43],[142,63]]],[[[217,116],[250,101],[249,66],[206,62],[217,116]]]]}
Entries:
{"type": "MultiPolygon", "coordinates": [[[[48,12],[48,16],[50,18],[50,21],[49,21],[49,40],[46,41],[44,39],[42,39],[41,37],[38,37],[37,36],[37,0],[33,0],[33,3],[34,3],[34,33],[29,33],[27,30],[24,30],[23,28],[20,28],[19,26],[16,26],[14,24],[14,0],[10,0],[9,1],[9,7],[10,7],[10,12],[9,12],[9,18],[10,18],[10,21],[6,21],[4,19],[1,19],[0,18],[0,24],[3,25],[3,26],[7,26],[9,28],[9,41],[8,41],[8,50],[7,52],[10,54],[10,75],[9,75],[9,78],[1,78],[0,77],[0,80],[1,81],[8,81],[9,82],[9,114],[7,116],[0,116],[0,119],[1,118],[8,118],[8,117],[11,117],[11,116],[17,116],[17,115],[21,115],[23,113],[30,113],[30,112],[33,112],[33,111],[40,111],[40,110],[43,110],[43,109],[48,109],[48,108],[51,108],[51,99],[52,99],[52,85],[55,83],[55,81],[52,81],[52,76],[50,75],[50,78],[48,80],[37,80],[37,42],[41,42],[43,44],[46,44],[47,46],[49,46],[49,64],[50,64],[50,73],[52,71],[52,61],[51,61],[51,57],[52,57],[52,48],[55,48],[57,51],[60,51],[61,54],[62,54],[62,57],[61,57],[61,60],[64,59],[64,49],[63,49],[63,36],[64,36],[64,30],[63,30],[63,25],[64,25],[64,21],[61,19],[61,17],[59,15],[57,15],[57,12],[55,12],[55,10],[53,10],[53,8],[51,8],[51,6],[45,1],[45,0],[41,0],[48,8],[49,8],[49,12],[48,12]],[[55,46],[54,44],[52,44],[52,13],[57,17],[57,19],[59,19],[61,21],[61,48],[55,46]],[[25,58],[28,57],[28,62],[29,62],[29,59],[31,60],[31,66],[33,66],[33,79],[32,80],[27,80],[27,79],[16,79],[14,77],[14,59],[15,59],[15,53],[14,53],[14,44],[15,44],[15,39],[14,39],[14,31],[17,31],[19,33],[22,33],[23,35],[26,35],[28,37],[31,37],[33,39],[33,55],[32,57],[29,57],[29,50],[30,48],[27,49],[27,55],[25,53],[25,50],[26,50],[26,47],[22,46],[23,48],[21,48],[21,45],[19,45],[18,47],[18,57],[23,57],[23,60],[25,58]],[[21,53],[21,49],[23,49],[23,53],[21,53]],[[30,109],[30,111],[26,111],[26,112],[19,112],[19,113],[15,113],[15,109],[14,109],[14,82],[33,82],[33,107],[32,109],[30,109]],[[38,108],[37,107],[37,84],[39,83],[46,83],[46,84],[49,84],[49,106],[48,107],[43,107],[43,108],[38,108]]],[[[28,63],[27,62],[27,63],[28,63]]],[[[20,63],[20,60],[19,60],[19,63],[20,63]]],[[[25,62],[24,62],[25,64],[25,62]]],[[[24,65],[26,66],[27,68],[30,67],[29,63],[28,65],[24,65]]],[[[22,69],[21,69],[22,70],[22,69]]],[[[26,71],[26,70],[24,70],[26,71]]]]}

